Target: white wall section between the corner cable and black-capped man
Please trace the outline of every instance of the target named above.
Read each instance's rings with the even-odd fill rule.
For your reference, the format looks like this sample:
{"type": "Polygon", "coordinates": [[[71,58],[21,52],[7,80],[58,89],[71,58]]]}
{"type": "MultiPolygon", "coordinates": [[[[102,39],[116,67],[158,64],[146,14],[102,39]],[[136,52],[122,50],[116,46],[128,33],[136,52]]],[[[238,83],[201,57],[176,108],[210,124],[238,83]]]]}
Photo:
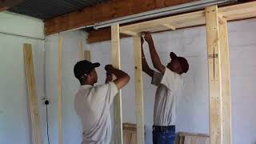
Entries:
{"type": "MultiPolygon", "coordinates": [[[[63,143],[81,143],[82,126],[74,110],[74,95],[79,82],[74,77],[74,64],[78,62],[78,42],[85,41],[82,31],[54,34],[46,41],[46,95],[50,98],[50,142],[58,143],[58,38],[62,38],[62,97],[63,143]]],[[[46,142],[46,141],[45,141],[46,142]]]]}

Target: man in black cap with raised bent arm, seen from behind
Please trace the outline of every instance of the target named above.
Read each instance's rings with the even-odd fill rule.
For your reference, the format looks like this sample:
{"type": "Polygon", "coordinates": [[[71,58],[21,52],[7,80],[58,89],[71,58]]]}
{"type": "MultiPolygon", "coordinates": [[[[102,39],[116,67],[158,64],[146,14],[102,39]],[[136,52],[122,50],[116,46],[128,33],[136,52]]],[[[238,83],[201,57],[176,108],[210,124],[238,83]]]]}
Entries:
{"type": "Polygon", "coordinates": [[[118,90],[129,82],[130,77],[111,65],[105,66],[106,83],[98,86],[95,68],[99,63],[86,60],[74,66],[74,76],[81,86],[74,99],[74,108],[82,122],[82,144],[110,144],[110,106],[118,90]],[[116,78],[112,81],[112,76],[116,78]]]}

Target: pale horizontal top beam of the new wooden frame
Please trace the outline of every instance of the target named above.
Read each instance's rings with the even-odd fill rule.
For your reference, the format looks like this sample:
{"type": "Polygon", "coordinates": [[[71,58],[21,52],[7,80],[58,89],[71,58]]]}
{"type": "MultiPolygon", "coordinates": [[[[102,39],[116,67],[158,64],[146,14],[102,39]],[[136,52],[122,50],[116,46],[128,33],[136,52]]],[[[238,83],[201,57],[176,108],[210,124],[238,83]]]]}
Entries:
{"type": "MultiPolygon", "coordinates": [[[[241,18],[254,18],[256,17],[256,2],[247,2],[234,6],[221,7],[219,8],[219,14],[221,15],[221,20],[223,20],[223,22],[226,20],[232,21],[241,18]]],[[[173,28],[166,26],[166,23],[173,24],[176,26],[175,28],[205,25],[205,10],[122,26],[120,27],[120,33],[125,34],[125,31],[130,31],[131,33],[140,33],[142,31],[156,32],[173,28]]]]}

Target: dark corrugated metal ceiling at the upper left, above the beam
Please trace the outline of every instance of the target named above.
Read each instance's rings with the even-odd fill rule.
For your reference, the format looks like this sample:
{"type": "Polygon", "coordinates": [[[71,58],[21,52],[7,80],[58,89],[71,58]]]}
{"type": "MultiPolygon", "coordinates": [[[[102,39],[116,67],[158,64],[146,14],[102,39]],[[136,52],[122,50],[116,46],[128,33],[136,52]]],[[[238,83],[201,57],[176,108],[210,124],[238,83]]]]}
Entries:
{"type": "Polygon", "coordinates": [[[106,1],[108,0],[24,0],[18,6],[11,8],[10,11],[35,18],[48,19],[106,1]]]}

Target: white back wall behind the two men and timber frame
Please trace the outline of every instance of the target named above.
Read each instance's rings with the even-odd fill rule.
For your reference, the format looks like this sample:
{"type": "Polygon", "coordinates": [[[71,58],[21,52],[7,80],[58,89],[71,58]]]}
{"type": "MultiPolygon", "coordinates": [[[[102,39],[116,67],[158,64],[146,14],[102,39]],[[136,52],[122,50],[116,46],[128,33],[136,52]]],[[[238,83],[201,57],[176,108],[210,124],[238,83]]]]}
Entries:
{"type": "MultiPolygon", "coordinates": [[[[233,144],[256,143],[255,34],[256,19],[229,23],[233,144]]],[[[190,63],[190,71],[185,76],[185,91],[178,107],[178,131],[208,134],[209,95],[205,27],[153,34],[153,38],[163,63],[169,61],[170,51],[185,56],[190,63]]],[[[122,70],[134,78],[132,39],[123,38],[121,49],[122,70]]],[[[102,62],[102,65],[110,63],[110,42],[94,43],[90,45],[90,50],[94,62],[102,62]]],[[[150,62],[147,46],[145,50],[146,59],[150,62]]],[[[151,62],[150,66],[152,67],[151,62]]],[[[102,68],[98,73],[105,76],[102,68]]],[[[155,88],[150,85],[150,78],[146,74],[143,78],[146,144],[150,144],[155,88]]],[[[99,78],[101,82],[103,79],[99,78]]],[[[122,95],[123,122],[135,123],[134,79],[122,90],[122,95]]]]}

